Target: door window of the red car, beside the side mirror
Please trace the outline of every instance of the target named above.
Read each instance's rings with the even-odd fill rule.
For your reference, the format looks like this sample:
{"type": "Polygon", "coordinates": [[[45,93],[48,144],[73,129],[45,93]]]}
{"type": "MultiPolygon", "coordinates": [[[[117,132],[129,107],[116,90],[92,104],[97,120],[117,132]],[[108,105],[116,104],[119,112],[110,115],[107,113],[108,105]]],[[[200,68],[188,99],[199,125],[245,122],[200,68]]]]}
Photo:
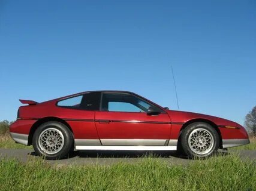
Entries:
{"type": "MultiPolygon", "coordinates": [[[[101,110],[109,112],[147,112],[153,104],[128,93],[104,93],[101,110]]],[[[158,109],[157,107],[155,107],[158,109]]],[[[160,111],[161,112],[161,111],[160,111]]]]}

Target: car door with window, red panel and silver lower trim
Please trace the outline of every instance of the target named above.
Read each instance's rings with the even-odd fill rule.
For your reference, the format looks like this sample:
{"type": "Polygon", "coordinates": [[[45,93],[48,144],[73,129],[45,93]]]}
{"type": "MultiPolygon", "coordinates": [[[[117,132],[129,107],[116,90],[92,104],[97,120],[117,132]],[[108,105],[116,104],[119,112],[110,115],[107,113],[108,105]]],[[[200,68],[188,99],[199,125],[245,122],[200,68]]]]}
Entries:
{"type": "Polygon", "coordinates": [[[130,93],[103,93],[95,124],[104,146],[165,146],[170,138],[168,114],[130,93]]]}

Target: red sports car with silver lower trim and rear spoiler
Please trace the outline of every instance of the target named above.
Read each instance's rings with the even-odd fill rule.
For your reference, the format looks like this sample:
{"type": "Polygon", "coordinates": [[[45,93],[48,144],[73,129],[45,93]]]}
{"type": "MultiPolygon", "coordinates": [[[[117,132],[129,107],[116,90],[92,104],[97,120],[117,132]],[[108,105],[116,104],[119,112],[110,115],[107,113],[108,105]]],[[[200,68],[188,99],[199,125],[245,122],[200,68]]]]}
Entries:
{"type": "Polygon", "coordinates": [[[75,150],[180,150],[189,157],[249,144],[227,119],[169,110],[128,91],[87,91],[37,103],[20,100],[10,134],[38,155],[60,159],[75,150]]]}

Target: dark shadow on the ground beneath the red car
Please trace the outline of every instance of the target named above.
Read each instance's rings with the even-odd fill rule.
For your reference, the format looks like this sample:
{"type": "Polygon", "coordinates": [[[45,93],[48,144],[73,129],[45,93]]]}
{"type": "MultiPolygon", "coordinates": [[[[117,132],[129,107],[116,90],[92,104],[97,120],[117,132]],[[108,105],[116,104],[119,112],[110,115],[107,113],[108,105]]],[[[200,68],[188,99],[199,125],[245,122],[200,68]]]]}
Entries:
{"type": "MultiPolygon", "coordinates": [[[[35,152],[28,153],[28,155],[38,156],[35,152]]],[[[218,150],[217,156],[230,155],[227,150],[218,150]]],[[[156,157],[156,158],[177,158],[191,160],[185,155],[180,155],[176,151],[120,151],[120,150],[80,150],[75,151],[68,155],[68,158],[143,158],[143,157],[156,157]]],[[[65,158],[65,159],[68,159],[65,158]]]]}

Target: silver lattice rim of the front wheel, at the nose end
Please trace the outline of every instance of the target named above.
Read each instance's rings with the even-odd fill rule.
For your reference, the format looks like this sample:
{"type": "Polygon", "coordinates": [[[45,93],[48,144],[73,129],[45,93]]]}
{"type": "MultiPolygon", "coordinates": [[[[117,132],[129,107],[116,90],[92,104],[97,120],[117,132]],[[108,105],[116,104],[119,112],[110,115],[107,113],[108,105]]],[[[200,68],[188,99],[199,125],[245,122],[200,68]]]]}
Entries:
{"type": "Polygon", "coordinates": [[[197,155],[206,155],[212,150],[213,135],[204,128],[195,129],[189,134],[188,144],[192,152],[197,155]]]}

